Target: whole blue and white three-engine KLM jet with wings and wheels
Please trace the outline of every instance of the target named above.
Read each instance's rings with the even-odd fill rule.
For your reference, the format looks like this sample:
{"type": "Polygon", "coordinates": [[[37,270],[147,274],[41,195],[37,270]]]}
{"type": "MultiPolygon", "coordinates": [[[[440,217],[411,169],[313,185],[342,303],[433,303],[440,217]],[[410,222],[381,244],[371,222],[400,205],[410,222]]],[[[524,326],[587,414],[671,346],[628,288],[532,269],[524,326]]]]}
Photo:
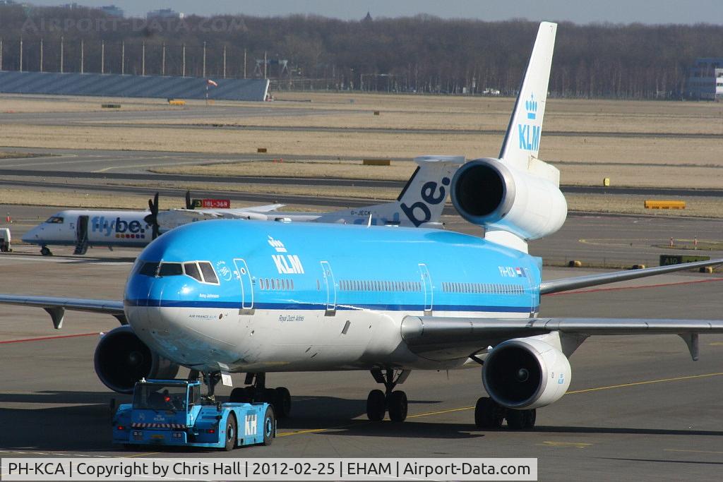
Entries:
{"type": "Polygon", "coordinates": [[[130,392],[144,376],[172,377],[185,366],[213,397],[219,381],[242,373],[246,387],[231,400],[268,400],[278,416],[289,414],[291,397],[267,387],[270,372],[369,371],[382,390],[369,392],[367,416],[401,422],[407,397],[398,387],[412,371],[482,366],[487,395],[477,400],[476,425],[531,429],[536,409],[565,395],[569,358],[589,336],[677,335],[696,359],[698,335],[723,332],[723,321],[539,316],[542,294],[723,263],[542,281],[542,260],[526,242],[557,231],[566,216],[557,170],[538,159],[556,29],[539,27],[499,157],[469,161],[450,182],[453,204],[484,237],[209,220],[147,246],[122,301],[0,301],[42,307],[57,328],[67,309],[119,319],[95,350],[95,371],[111,390],[130,392]]]}

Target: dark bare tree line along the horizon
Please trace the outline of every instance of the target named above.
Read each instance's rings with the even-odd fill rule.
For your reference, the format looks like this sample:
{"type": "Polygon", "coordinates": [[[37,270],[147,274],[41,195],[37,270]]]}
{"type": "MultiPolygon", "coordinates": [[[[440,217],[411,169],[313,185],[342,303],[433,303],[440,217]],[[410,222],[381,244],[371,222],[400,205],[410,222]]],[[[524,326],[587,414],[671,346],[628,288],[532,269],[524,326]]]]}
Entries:
{"type": "MultiPolygon", "coordinates": [[[[302,15],[117,19],[97,9],[10,5],[0,6],[0,68],[20,69],[22,39],[27,71],[59,72],[62,64],[63,72],[267,75],[277,89],[512,94],[536,28],[526,20],[427,15],[359,21],[302,15]]],[[[688,67],[705,56],[723,56],[723,26],[562,22],[550,93],[677,98],[688,67]]]]}

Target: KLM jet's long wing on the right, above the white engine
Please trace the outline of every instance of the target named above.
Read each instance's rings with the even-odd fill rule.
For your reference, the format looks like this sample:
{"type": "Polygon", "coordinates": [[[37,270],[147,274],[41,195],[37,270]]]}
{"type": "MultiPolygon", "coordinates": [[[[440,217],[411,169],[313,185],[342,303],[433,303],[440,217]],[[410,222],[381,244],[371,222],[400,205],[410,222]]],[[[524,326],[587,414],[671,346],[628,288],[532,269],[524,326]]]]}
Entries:
{"type": "Polygon", "coordinates": [[[630,318],[405,317],[401,334],[409,350],[432,360],[472,356],[505,340],[557,331],[577,346],[591,335],[680,335],[698,359],[698,334],[723,333],[723,320],[630,318]]]}

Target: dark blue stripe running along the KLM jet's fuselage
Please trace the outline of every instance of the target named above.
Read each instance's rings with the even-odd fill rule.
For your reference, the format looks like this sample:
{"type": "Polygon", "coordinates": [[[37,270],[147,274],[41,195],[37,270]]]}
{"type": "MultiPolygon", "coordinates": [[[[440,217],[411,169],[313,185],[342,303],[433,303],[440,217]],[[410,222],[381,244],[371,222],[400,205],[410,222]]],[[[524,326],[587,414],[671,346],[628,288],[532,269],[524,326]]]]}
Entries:
{"type": "MultiPolygon", "coordinates": [[[[125,306],[152,306],[163,308],[228,308],[239,309],[239,301],[187,301],[187,300],[158,300],[138,298],[124,300],[125,306]]],[[[254,303],[255,309],[283,309],[283,310],[325,310],[325,304],[299,304],[299,303],[254,303]]],[[[423,311],[424,305],[416,304],[359,304],[354,306],[337,305],[337,311],[356,311],[360,309],[373,309],[378,311],[423,311]]],[[[529,313],[537,311],[537,306],[489,306],[489,305],[435,305],[434,311],[492,311],[496,313],[529,313]]]]}

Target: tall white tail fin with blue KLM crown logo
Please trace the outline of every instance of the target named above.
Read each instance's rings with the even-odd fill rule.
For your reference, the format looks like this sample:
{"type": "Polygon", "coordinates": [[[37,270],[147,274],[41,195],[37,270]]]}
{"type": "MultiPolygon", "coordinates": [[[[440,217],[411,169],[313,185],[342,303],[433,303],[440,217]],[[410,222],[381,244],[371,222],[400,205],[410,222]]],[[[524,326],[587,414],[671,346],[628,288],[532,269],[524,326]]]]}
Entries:
{"type": "Polygon", "coordinates": [[[514,168],[547,178],[559,186],[560,172],[538,158],[556,33],[557,24],[540,23],[505,140],[502,142],[500,159],[514,168]]]}

